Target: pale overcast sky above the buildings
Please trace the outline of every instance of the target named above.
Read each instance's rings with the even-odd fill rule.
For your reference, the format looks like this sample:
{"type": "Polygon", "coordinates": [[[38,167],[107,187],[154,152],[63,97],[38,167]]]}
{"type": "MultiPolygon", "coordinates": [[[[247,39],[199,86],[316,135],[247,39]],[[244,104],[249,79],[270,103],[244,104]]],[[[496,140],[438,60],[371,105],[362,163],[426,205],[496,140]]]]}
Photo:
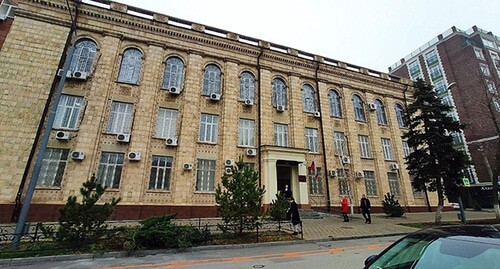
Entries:
{"type": "Polygon", "coordinates": [[[383,72],[451,26],[500,36],[500,0],[117,2],[383,72]]]}

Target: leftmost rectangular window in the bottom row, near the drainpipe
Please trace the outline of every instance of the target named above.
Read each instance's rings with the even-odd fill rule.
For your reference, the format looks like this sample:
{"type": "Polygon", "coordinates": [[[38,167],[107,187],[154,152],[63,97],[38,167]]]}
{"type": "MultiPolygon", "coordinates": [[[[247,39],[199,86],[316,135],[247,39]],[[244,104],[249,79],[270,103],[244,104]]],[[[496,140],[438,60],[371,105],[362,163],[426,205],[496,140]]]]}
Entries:
{"type": "Polygon", "coordinates": [[[43,154],[42,167],[36,185],[39,187],[60,187],[68,162],[68,154],[69,149],[47,148],[43,154]]]}

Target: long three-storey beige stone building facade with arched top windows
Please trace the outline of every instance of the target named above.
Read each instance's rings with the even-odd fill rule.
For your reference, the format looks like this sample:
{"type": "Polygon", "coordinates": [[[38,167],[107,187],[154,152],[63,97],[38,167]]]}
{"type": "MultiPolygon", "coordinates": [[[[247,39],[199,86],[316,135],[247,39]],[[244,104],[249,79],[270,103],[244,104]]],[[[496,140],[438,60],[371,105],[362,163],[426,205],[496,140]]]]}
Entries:
{"type": "Polygon", "coordinates": [[[119,3],[71,12],[19,1],[0,52],[2,222],[62,80],[30,221],[57,219],[94,173],[104,199],[122,199],[115,219],[215,216],[214,189],[239,158],[259,172],[264,207],[288,185],[303,208],[342,196],[357,207],[366,193],[380,210],[388,192],[427,208],[404,169],[409,80],[119,3]]]}

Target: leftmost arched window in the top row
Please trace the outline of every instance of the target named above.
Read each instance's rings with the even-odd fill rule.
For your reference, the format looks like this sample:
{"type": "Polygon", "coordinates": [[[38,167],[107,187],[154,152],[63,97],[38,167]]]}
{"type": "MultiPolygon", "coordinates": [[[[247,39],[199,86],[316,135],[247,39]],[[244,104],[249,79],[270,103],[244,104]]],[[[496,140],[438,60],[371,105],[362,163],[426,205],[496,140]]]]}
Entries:
{"type": "Polygon", "coordinates": [[[94,64],[97,45],[90,39],[80,39],[75,44],[69,70],[90,73],[94,64]]]}

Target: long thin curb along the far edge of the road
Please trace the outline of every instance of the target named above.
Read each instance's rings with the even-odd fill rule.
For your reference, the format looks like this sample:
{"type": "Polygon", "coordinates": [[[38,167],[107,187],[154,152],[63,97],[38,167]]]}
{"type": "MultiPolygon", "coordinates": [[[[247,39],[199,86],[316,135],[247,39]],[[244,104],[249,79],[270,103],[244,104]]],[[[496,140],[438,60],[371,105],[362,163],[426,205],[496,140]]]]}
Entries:
{"type": "Polygon", "coordinates": [[[144,257],[158,254],[174,254],[180,252],[195,252],[203,250],[224,250],[234,248],[255,248],[265,246],[280,246],[290,244],[315,244],[323,242],[332,242],[340,240],[352,240],[363,238],[376,238],[386,236],[403,236],[408,233],[389,233],[389,234],[373,234],[373,235],[360,235],[360,236],[347,236],[347,237],[328,237],[322,239],[305,239],[293,241],[276,241],[276,242],[262,242],[262,243],[248,243],[248,244],[232,244],[232,245],[212,245],[212,246],[198,246],[186,249],[155,249],[155,250],[137,250],[137,251],[113,251],[102,254],[79,254],[79,255],[58,255],[58,256],[43,256],[43,257],[29,257],[29,258],[12,258],[0,260],[0,267],[13,266],[13,265],[32,265],[37,263],[47,262],[61,262],[61,261],[75,261],[75,260],[94,260],[102,258],[126,258],[126,257],[144,257]]]}

